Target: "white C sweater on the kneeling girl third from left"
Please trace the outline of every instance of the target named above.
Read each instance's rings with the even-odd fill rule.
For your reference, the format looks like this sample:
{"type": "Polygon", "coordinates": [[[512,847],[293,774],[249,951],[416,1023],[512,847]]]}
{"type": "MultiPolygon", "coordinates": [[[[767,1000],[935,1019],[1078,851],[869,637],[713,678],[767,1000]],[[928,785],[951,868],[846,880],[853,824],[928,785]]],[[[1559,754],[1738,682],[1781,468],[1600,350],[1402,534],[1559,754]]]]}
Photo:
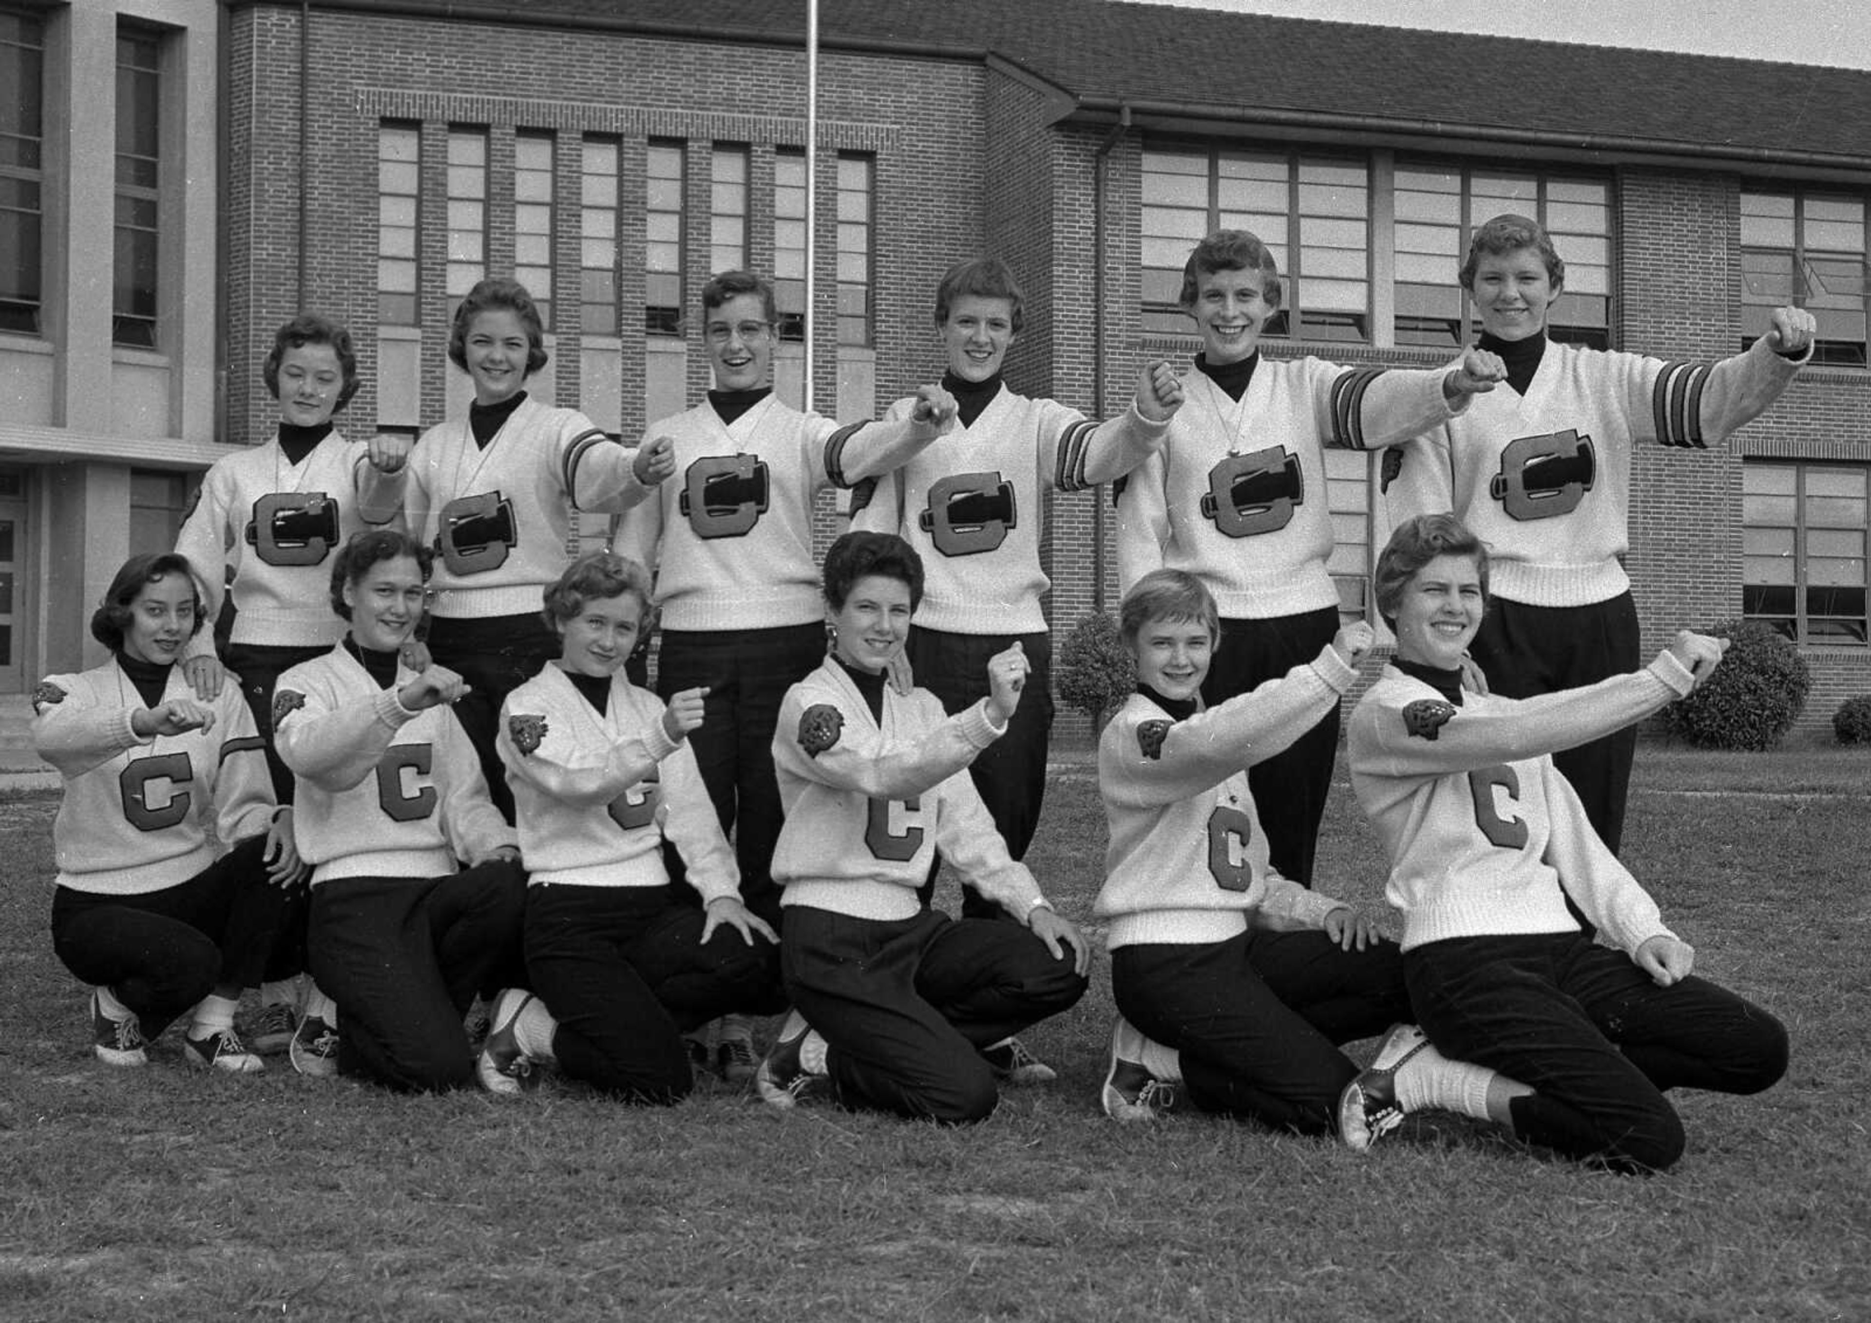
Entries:
{"type": "Polygon", "coordinates": [[[668,885],[668,836],[703,904],[739,894],[694,750],[668,737],[662,713],[660,698],[617,672],[599,715],[552,662],[507,694],[494,747],[535,887],[668,885]]]}

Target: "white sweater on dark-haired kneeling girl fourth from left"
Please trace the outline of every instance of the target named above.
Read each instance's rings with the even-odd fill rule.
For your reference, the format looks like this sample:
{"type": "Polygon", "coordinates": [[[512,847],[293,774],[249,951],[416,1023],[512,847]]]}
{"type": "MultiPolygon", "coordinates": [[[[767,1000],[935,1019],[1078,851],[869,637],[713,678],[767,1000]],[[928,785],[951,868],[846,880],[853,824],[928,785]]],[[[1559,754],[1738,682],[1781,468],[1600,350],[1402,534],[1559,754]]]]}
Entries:
{"type": "Polygon", "coordinates": [[[831,657],[786,691],[773,765],[786,825],[773,851],[782,906],[913,919],[917,887],[943,863],[1025,921],[1042,904],[1027,866],[980,803],[967,765],[1005,734],[988,700],[949,717],[926,689],[883,689],[883,720],[831,657]]]}

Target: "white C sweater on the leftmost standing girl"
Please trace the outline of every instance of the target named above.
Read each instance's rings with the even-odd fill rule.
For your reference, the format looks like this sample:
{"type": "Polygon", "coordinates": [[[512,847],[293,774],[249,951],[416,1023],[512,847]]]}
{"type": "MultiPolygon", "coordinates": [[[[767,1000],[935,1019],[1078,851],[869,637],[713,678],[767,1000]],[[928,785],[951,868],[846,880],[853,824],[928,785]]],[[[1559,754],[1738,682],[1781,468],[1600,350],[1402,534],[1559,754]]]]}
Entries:
{"type": "Polygon", "coordinates": [[[189,657],[213,655],[228,591],[239,612],[236,644],[329,647],[344,636],[344,621],[331,614],[331,558],[352,533],[402,515],[406,472],[376,472],[369,449],[331,432],[294,464],[275,434],[208,468],[176,539],[208,608],[210,627],[189,642],[189,657]]]}

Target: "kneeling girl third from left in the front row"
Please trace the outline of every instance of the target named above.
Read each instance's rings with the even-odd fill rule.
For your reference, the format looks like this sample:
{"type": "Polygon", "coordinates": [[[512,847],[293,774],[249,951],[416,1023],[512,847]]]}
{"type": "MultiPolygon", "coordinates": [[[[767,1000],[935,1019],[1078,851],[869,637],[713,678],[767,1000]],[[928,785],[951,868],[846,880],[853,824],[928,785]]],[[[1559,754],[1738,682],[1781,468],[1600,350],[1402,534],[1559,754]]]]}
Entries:
{"type": "Polygon", "coordinates": [[[494,1007],[486,1054],[509,1074],[524,1059],[631,1102],[679,1102],[694,1085],[681,1033],[786,1007],[778,934],[741,904],[687,743],[707,691],[664,705],[623,674],[649,625],[647,571],[593,552],[544,603],[559,657],[507,694],[500,722],[531,870],[526,971],[539,996],[494,1007]],[[677,902],[664,840],[703,909],[677,902]]]}

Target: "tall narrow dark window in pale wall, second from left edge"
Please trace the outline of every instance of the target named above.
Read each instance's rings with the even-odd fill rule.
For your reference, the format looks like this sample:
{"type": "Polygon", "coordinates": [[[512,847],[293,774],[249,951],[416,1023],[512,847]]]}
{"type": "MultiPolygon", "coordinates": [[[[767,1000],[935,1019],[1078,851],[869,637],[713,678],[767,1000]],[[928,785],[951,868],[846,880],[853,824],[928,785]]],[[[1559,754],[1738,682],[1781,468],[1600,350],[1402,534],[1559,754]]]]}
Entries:
{"type": "Polygon", "coordinates": [[[144,350],[155,348],[159,294],[161,54],[153,32],[118,28],[110,339],[144,350]]]}

